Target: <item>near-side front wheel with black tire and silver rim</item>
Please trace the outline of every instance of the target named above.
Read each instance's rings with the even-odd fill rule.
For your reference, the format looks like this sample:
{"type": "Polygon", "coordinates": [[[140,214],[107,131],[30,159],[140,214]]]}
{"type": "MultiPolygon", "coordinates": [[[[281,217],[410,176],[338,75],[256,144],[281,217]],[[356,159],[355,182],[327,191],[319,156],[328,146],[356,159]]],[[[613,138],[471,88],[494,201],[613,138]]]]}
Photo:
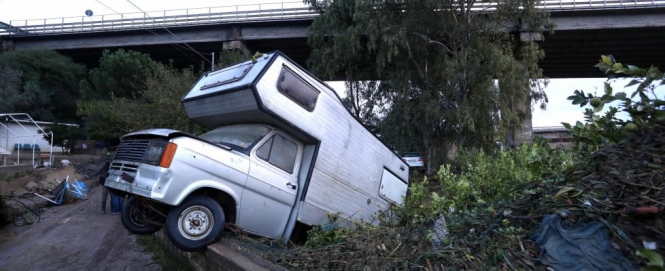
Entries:
{"type": "Polygon", "coordinates": [[[217,241],[224,229],[224,210],[215,200],[193,196],[169,211],[166,235],[184,251],[197,251],[217,241]]]}

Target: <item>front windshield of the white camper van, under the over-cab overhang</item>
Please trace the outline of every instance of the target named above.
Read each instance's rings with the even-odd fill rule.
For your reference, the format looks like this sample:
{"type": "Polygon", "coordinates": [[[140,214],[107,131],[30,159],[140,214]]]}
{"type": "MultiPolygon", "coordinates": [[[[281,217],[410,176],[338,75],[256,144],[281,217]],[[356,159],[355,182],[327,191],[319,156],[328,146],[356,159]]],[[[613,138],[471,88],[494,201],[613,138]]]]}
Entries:
{"type": "Polygon", "coordinates": [[[270,128],[257,124],[229,125],[216,128],[200,135],[201,138],[216,144],[231,147],[236,151],[249,154],[249,150],[263,138],[270,128]]]}

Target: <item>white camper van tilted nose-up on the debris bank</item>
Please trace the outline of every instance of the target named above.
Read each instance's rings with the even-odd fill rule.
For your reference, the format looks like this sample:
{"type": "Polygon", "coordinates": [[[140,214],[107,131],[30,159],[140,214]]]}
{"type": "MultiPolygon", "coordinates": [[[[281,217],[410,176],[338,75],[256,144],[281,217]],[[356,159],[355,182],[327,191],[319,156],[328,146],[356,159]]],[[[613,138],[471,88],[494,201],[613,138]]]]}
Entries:
{"type": "Polygon", "coordinates": [[[205,74],[182,104],[210,131],[133,132],[111,162],[105,185],[128,195],[132,233],[164,227],[185,251],[218,240],[225,223],[288,241],[311,226],[372,223],[406,196],[408,165],[280,52],[205,74]]]}

